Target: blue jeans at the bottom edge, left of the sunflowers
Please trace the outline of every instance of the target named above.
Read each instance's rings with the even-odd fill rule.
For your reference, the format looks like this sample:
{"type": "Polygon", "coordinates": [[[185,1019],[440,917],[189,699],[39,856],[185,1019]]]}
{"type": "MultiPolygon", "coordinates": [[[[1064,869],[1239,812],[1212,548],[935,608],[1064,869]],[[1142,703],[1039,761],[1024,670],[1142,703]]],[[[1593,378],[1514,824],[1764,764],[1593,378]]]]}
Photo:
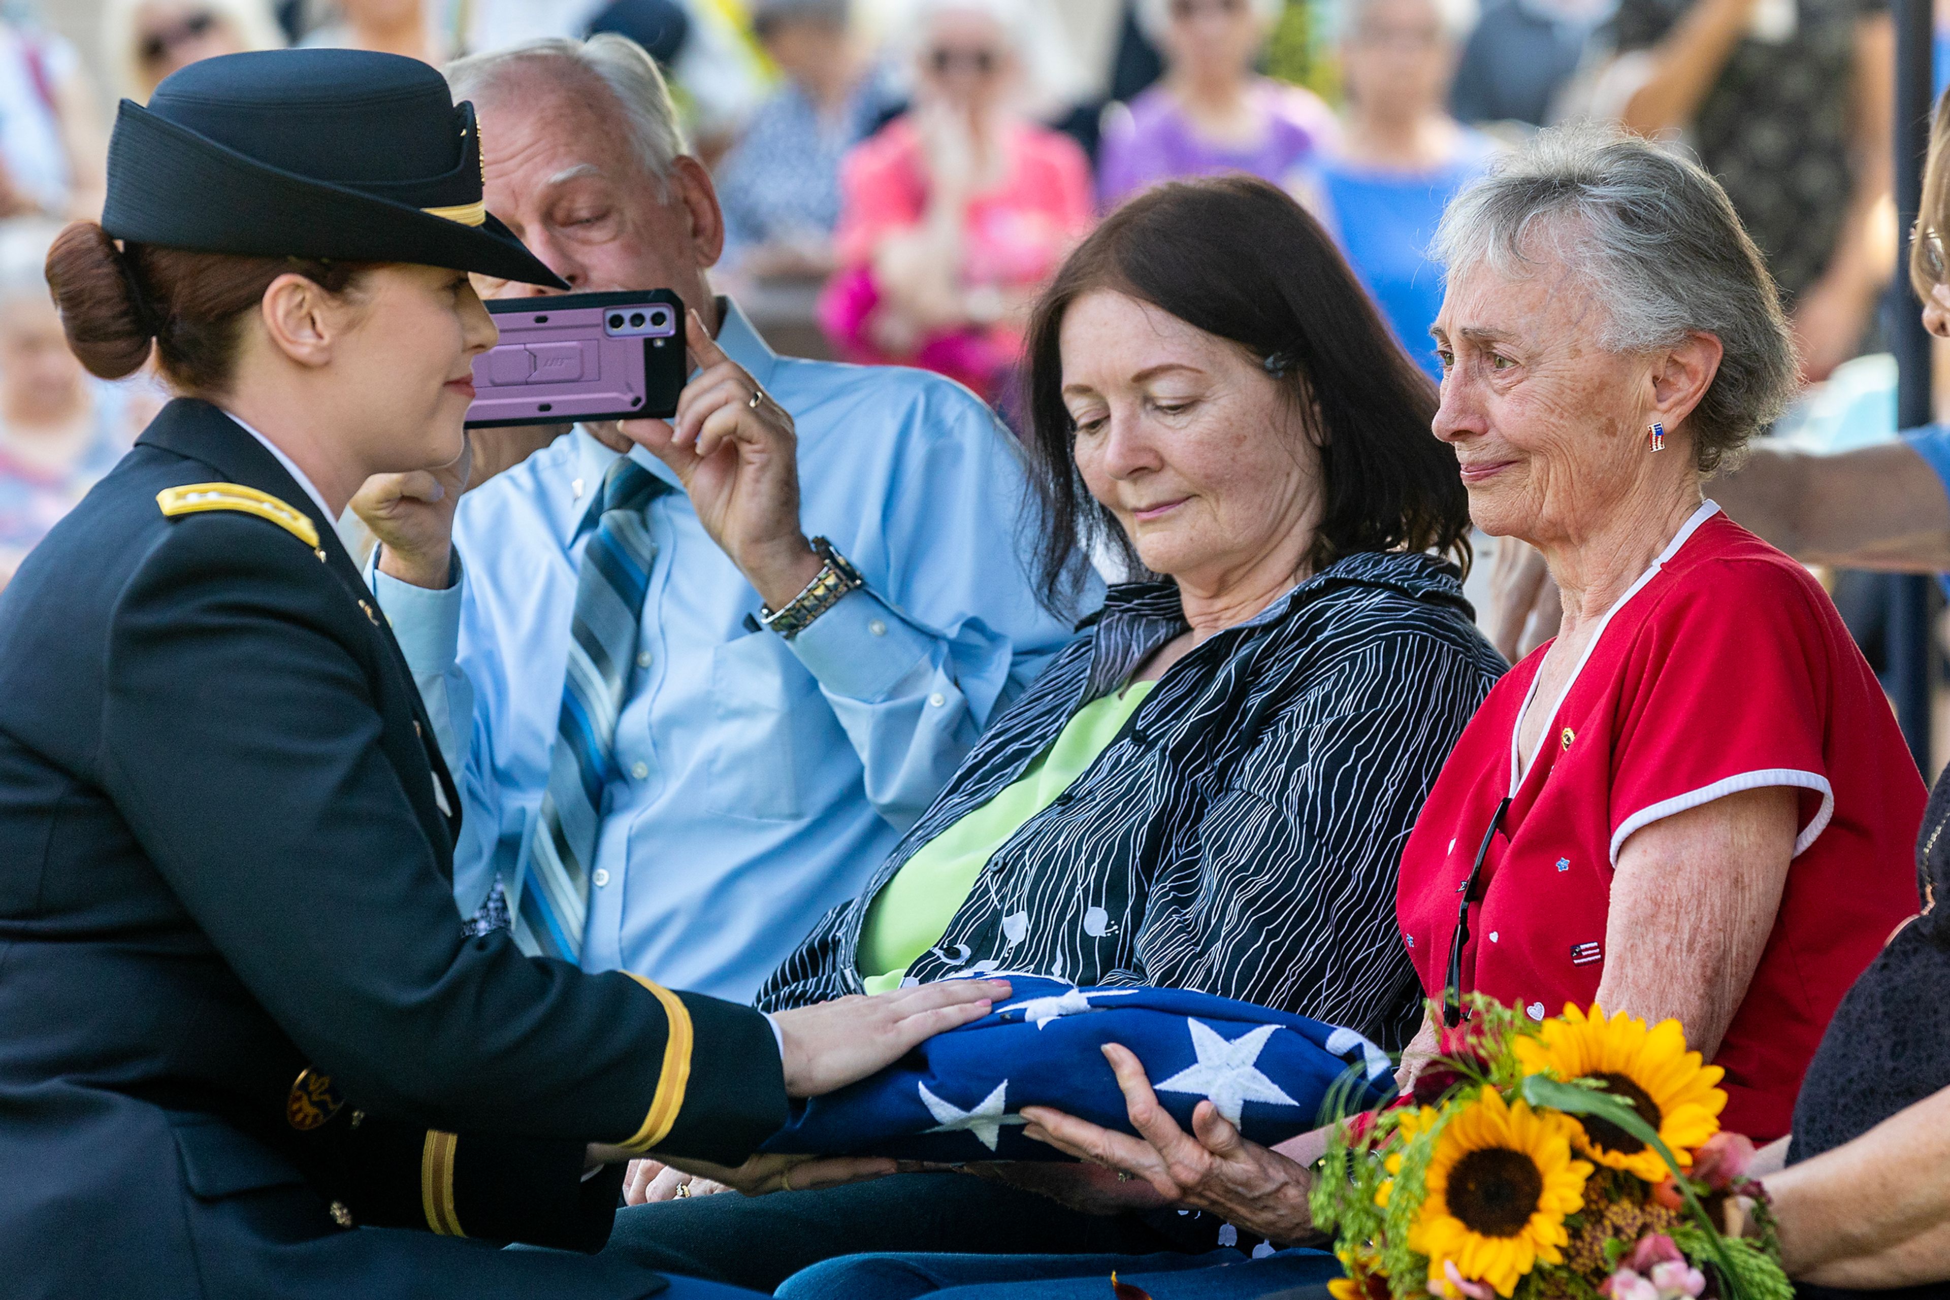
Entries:
{"type": "MultiPolygon", "coordinates": [[[[778,1300],[1108,1300],[1110,1275],[1150,1300],[1260,1300],[1316,1288],[1342,1275],[1326,1251],[1275,1251],[1248,1259],[1205,1255],[844,1255],[803,1269],[778,1300]]],[[[1308,1296],[1306,1300],[1314,1300],[1308,1296]]]]}

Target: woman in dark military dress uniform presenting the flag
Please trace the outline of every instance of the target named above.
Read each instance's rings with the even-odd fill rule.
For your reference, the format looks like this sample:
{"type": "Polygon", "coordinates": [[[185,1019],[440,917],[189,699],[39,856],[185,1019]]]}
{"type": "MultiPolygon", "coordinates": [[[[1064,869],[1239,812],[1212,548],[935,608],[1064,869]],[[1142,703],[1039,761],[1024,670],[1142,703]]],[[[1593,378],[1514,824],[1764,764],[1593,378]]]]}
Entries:
{"type": "Polygon", "coordinates": [[[460,801],[333,520],[462,452],[495,329],[564,287],[482,207],[472,105],[408,58],[211,58],[123,101],[49,255],[99,376],[179,394],[0,596],[0,1290],[723,1294],[601,1257],[624,1160],[745,1191],[788,1095],[987,1010],[772,1017],[462,937],[460,801]]]}

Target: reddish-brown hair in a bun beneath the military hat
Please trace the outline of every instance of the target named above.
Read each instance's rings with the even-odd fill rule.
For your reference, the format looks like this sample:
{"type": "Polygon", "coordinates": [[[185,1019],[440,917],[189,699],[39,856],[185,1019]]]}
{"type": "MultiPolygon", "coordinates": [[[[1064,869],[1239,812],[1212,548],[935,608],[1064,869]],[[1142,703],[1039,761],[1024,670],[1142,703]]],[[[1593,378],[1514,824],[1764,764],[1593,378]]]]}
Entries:
{"type": "Polygon", "coordinates": [[[47,285],[68,349],[90,374],[119,380],[148,361],[185,394],[216,398],[234,376],[244,314],[279,275],[296,273],[326,292],[353,288],[369,263],[242,257],[179,248],[117,248],[101,226],[78,220],[47,249],[47,285]]]}

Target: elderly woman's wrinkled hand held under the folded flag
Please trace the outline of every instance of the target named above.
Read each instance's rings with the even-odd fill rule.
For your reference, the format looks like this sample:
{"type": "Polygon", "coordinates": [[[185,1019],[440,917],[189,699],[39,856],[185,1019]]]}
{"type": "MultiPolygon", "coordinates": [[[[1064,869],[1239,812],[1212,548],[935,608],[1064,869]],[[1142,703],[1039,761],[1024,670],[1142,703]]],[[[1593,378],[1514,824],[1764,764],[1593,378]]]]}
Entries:
{"type": "Polygon", "coordinates": [[[1131,1125],[1143,1138],[1041,1105],[1022,1109],[1030,1121],[1024,1136],[1139,1177],[1168,1201],[1207,1210],[1271,1242],[1297,1243],[1316,1236],[1306,1206],[1312,1175],[1303,1166],[1248,1142],[1211,1101],[1199,1101],[1188,1134],[1158,1105],[1145,1066],[1131,1051],[1108,1043],[1104,1058],[1117,1074],[1131,1125]]]}

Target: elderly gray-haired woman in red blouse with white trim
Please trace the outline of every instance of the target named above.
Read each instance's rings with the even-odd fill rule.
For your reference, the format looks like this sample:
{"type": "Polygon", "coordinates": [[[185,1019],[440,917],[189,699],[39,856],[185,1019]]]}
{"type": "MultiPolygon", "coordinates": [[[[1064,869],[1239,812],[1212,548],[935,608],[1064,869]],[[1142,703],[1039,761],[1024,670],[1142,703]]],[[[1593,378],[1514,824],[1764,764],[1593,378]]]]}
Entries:
{"type": "Polygon", "coordinates": [[[1410,836],[1410,957],[1451,1019],[1470,992],[1677,1015],[1726,1068],[1722,1123],[1776,1138],[1917,910],[1925,791],[1821,587],[1702,499],[1792,384],[1773,283],[1704,172],[1589,133],[1464,191],[1437,244],[1435,435],[1476,526],[1542,552],[1564,624],[1410,836]]]}

